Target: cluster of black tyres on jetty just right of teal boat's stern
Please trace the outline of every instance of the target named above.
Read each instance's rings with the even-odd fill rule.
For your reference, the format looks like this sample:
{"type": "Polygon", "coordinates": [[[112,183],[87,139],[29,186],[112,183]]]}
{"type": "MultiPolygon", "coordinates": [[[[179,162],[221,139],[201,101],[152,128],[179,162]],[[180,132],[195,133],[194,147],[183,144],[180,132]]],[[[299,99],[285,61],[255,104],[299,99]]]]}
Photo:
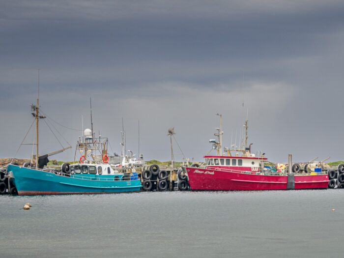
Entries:
{"type": "Polygon", "coordinates": [[[153,164],[149,169],[144,170],[141,173],[141,177],[143,178],[143,191],[166,191],[168,188],[168,172],[166,170],[160,170],[159,166],[156,164],[153,164]]]}

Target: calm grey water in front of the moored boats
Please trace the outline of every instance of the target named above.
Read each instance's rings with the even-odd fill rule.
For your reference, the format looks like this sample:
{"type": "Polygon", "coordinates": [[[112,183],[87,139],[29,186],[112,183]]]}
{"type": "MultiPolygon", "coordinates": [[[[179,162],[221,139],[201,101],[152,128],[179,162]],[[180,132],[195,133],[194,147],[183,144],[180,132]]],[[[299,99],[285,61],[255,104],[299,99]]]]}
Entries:
{"type": "Polygon", "coordinates": [[[343,203],[343,190],[0,196],[0,257],[343,258],[343,203]]]}

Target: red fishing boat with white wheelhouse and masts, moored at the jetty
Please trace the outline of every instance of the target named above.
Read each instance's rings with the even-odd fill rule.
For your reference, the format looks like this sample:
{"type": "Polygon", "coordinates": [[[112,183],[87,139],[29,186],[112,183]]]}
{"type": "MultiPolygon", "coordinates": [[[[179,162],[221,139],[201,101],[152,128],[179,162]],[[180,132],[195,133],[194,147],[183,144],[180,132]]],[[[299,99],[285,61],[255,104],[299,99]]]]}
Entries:
{"type": "MultiPolygon", "coordinates": [[[[183,167],[192,190],[285,190],[328,188],[329,176],[321,168],[315,171],[301,170],[299,164],[271,166],[264,153],[251,153],[247,147],[247,119],[245,122],[245,143],[243,148],[225,148],[222,153],[222,115],[220,128],[216,128],[218,141],[210,140],[216,155],[206,155],[205,167],[183,167]],[[234,155],[231,152],[235,152],[234,155]],[[239,154],[241,153],[241,155],[239,154]]],[[[307,168],[307,166],[305,166],[307,168]]]]}

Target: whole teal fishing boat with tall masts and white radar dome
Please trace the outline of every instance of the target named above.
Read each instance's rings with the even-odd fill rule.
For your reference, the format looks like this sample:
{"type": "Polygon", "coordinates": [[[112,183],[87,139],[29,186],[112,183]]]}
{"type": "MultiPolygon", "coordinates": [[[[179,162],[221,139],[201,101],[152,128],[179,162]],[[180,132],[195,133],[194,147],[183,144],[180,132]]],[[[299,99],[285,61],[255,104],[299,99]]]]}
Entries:
{"type": "MultiPolygon", "coordinates": [[[[48,157],[60,153],[71,146],[45,155],[38,153],[38,121],[47,118],[39,112],[39,97],[36,105],[31,105],[31,114],[36,122],[35,155],[31,162],[24,165],[9,164],[7,175],[18,192],[18,195],[62,195],[62,194],[111,194],[139,192],[141,180],[135,172],[127,173],[121,164],[109,164],[107,152],[108,139],[95,138],[92,123],[91,129],[84,131],[76,146],[80,152],[79,162],[76,164],[63,163],[60,169],[49,169],[48,157]],[[102,156],[101,161],[95,161],[96,154],[102,156]]],[[[62,146],[63,147],[63,146],[62,146]]]]}

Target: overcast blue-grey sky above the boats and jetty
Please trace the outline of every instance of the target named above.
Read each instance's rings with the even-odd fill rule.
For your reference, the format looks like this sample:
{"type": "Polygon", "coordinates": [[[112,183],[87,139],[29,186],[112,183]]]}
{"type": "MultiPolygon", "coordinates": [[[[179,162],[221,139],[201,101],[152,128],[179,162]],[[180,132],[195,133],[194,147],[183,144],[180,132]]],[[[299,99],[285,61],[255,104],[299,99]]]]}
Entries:
{"type": "MultiPolygon", "coordinates": [[[[343,1],[2,0],[0,7],[0,157],[13,156],[29,128],[40,69],[42,110],[72,128],[83,115],[86,127],[91,96],[95,129],[115,152],[124,117],[135,153],[140,119],[146,159],[169,159],[174,126],[185,155],[201,160],[216,113],[224,145],[232,130],[239,138],[244,102],[255,152],[281,162],[288,153],[298,161],[344,159],[343,1]]],[[[41,124],[42,152],[59,148],[41,124]]],[[[74,147],[80,133],[56,128],[74,147]]],[[[26,146],[18,156],[30,152],[26,146]]]]}

